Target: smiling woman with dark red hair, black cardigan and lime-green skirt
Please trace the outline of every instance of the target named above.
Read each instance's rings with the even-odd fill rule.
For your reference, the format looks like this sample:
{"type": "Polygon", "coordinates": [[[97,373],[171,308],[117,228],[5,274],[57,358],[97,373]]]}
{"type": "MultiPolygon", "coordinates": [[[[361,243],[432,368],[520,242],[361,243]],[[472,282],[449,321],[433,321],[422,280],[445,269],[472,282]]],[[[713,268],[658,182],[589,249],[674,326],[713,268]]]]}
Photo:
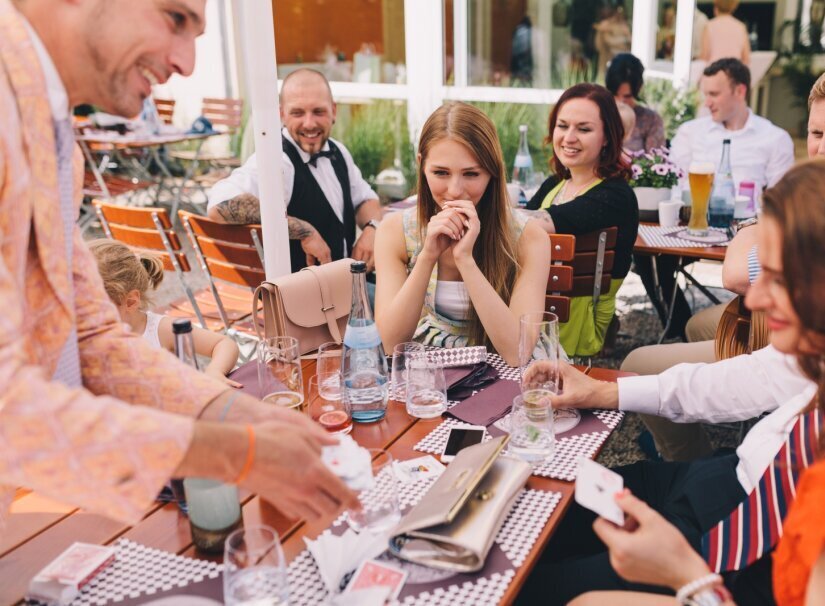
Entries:
{"type": "Polygon", "coordinates": [[[639,229],[639,206],[627,184],[630,167],[622,155],[624,128],[613,95],[597,84],[567,89],[550,113],[547,142],[553,145],[548,178],[527,208],[548,233],[586,234],[619,228],[613,281],[595,309],[592,297],[571,302],[560,337],[569,356],[592,356],[604,344],[616,309],[616,291],[630,270],[639,229]]]}

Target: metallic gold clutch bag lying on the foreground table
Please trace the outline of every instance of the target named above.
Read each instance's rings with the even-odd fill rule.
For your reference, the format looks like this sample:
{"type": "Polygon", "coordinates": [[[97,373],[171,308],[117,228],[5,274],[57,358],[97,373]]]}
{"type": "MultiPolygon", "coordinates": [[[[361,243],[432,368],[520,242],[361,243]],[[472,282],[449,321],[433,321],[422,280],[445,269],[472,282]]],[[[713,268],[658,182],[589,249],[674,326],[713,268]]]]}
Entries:
{"type": "Polygon", "coordinates": [[[432,568],[480,570],[532,469],[521,459],[499,456],[509,438],[460,451],[393,530],[390,551],[432,568]]]}

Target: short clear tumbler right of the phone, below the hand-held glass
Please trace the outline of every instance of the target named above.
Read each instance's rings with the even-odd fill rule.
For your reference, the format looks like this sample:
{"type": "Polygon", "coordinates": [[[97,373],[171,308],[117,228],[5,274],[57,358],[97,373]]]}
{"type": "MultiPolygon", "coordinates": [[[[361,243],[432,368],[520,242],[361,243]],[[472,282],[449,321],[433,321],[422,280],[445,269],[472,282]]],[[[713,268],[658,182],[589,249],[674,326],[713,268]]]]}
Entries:
{"type": "Polygon", "coordinates": [[[513,399],[509,451],[533,465],[541,465],[553,458],[556,434],[550,398],[535,402],[528,402],[523,396],[513,399]]]}

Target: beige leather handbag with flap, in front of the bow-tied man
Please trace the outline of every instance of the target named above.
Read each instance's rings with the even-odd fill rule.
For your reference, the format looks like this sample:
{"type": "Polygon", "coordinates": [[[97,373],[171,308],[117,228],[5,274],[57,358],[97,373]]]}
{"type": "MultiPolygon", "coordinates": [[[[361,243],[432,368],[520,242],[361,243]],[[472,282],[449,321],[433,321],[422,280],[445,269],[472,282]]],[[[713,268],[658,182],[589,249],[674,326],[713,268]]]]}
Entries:
{"type": "Polygon", "coordinates": [[[262,282],[252,298],[258,338],[295,337],[301,354],[328,341],[341,343],[352,306],[351,263],[352,259],[340,259],[262,282]]]}

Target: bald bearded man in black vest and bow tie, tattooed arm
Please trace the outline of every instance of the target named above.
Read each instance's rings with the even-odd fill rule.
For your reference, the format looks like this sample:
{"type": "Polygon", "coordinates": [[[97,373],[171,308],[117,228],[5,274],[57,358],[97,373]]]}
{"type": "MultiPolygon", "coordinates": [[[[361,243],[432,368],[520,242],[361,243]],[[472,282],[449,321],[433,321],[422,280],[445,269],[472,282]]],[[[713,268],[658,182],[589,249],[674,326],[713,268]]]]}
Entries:
{"type": "MultiPolygon", "coordinates": [[[[315,70],[296,70],[284,78],[280,105],[292,271],[348,256],[371,271],[381,204],[347,148],[329,136],[336,115],[329,83],[315,70]],[[363,230],[357,240],[356,224],[363,230]]],[[[209,191],[208,215],[260,223],[255,154],[209,191]]]]}

